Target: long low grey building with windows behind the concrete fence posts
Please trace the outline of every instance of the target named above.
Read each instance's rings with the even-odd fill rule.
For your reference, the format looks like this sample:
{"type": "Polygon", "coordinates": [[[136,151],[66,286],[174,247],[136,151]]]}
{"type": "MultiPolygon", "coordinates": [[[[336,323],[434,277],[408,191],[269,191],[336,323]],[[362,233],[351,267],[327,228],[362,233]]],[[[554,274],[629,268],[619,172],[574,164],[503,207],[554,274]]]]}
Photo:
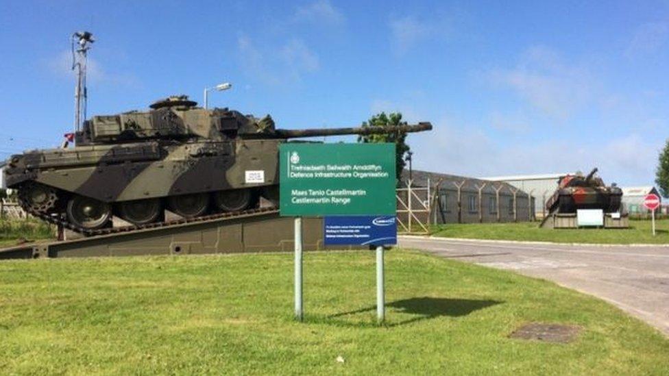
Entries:
{"type": "MultiPolygon", "coordinates": [[[[409,171],[402,171],[403,186],[409,171]]],[[[430,223],[533,221],[534,197],[504,181],[411,171],[412,186],[430,187],[430,223]]],[[[416,205],[414,205],[415,207],[416,205]]],[[[398,206],[398,212],[400,212],[398,206]]]]}

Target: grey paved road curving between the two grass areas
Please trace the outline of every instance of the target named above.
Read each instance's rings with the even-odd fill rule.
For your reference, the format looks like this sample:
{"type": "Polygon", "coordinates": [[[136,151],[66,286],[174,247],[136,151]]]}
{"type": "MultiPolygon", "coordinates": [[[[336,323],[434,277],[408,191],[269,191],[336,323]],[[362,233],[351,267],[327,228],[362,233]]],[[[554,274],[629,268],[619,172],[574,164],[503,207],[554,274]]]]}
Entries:
{"type": "Polygon", "coordinates": [[[494,268],[550,279],[600,297],[669,336],[669,247],[531,245],[400,237],[424,249],[494,268]]]}

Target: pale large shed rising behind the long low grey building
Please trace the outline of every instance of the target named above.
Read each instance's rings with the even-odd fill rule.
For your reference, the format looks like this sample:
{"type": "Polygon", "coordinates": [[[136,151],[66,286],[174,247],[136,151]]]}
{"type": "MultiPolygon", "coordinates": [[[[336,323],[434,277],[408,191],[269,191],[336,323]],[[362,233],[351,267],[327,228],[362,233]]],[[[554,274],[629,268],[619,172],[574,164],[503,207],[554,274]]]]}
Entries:
{"type": "Polygon", "coordinates": [[[510,175],[482,177],[481,179],[490,181],[505,181],[515,188],[523,190],[536,198],[534,203],[534,212],[537,218],[544,218],[546,213],[546,201],[557,189],[560,177],[573,173],[552,173],[541,175],[510,175]]]}

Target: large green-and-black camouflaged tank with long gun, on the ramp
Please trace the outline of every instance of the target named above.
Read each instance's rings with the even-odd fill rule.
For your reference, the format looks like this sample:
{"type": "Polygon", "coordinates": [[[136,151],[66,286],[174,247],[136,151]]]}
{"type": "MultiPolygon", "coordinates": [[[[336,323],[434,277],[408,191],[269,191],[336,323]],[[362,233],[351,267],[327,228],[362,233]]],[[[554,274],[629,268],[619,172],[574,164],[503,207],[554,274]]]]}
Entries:
{"type": "Polygon", "coordinates": [[[133,225],[163,221],[165,209],[183,218],[238,212],[260,197],[278,202],[278,145],[289,138],[432,129],[276,129],[269,115],[207,110],[183,95],[149,108],[93,116],[75,147],[12,155],[5,178],[21,207],[84,231],[110,227],[112,216],[133,225]]]}

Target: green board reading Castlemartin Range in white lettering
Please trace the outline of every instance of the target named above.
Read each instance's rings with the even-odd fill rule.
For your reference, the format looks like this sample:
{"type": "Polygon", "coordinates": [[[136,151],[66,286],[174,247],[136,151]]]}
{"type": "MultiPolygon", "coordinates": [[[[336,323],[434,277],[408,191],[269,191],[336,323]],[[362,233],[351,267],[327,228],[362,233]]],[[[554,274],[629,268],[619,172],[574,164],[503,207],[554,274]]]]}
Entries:
{"type": "Polygon", "coordinates": [[[280,145],[282,216],[395,215],[395,144],[280,145]]]}

